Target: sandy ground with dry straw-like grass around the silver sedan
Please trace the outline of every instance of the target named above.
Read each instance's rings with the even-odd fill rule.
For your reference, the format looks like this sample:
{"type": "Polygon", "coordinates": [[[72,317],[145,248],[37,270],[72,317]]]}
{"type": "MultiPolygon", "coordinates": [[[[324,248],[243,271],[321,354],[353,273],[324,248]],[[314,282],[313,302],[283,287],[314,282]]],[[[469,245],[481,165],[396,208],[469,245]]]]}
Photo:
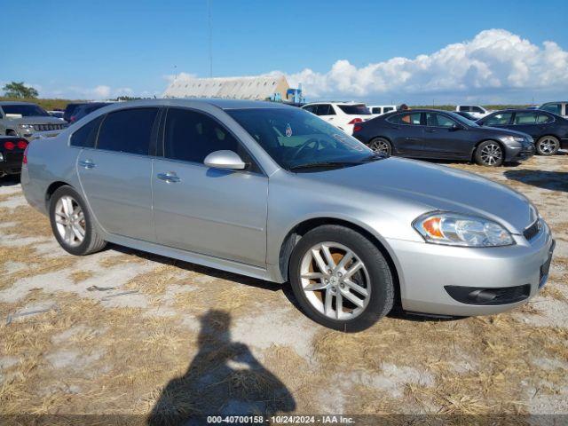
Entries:
{"type": "MultiPolygon", "coordinates": [[[[552,227],[541,295],[345,335],[287,289],[126,248],[67,255],[0,186],[0,414],[568,414],[568,154],[448,164],[525,193],[552,227]],[[95,287],[93,287],[95,286],[95,287]],[[111,288],[111,289],[106,289],[111,288]]],[[[140,415],[141,414],[141,415],[140,415]]]]}

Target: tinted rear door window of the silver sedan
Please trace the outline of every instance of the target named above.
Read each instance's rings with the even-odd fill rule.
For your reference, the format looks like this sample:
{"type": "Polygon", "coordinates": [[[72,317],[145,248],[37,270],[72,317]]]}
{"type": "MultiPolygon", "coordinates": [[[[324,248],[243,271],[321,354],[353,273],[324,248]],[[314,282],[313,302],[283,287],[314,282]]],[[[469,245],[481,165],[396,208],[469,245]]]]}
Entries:
{"type": "Polygon", "coordinates": [[[147,155],[158,108],[122,109],[106,114],[97,148],[119,153],[147,155]]]}

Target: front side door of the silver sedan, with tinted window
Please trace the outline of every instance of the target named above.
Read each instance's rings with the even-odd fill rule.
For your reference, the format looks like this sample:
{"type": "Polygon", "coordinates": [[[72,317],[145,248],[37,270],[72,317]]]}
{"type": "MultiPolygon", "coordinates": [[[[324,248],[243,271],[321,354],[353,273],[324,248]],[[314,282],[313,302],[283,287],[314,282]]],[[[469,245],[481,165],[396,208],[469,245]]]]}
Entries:
{"type": "Polygon", "coordinates": [[[216,118],[169,108],[163,156],[154,160],[152,183],[159,243],[265,266],[268,177],[216,118]],[[236,152],[248,168],[205,166],[205,157],[218,150],[236,152]]]}

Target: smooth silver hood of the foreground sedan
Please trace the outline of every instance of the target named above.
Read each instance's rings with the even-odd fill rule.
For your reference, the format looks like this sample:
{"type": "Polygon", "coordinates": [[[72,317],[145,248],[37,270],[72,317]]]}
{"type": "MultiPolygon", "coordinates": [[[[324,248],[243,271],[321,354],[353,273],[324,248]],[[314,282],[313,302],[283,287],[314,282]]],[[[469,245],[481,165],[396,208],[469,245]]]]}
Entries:
{"type": "Polygon", "coordinates": [[[488,217],[504,225],[511,233],[522,233],[538,215],[524,195],[507,186],[473,173],[428,162],[390,157],[304,175],[320,183],[351,188],[354,196],[368,195],[369,202],[381,202],[383,196],[411,203],[424,213],[445,210],[488,217]]]}

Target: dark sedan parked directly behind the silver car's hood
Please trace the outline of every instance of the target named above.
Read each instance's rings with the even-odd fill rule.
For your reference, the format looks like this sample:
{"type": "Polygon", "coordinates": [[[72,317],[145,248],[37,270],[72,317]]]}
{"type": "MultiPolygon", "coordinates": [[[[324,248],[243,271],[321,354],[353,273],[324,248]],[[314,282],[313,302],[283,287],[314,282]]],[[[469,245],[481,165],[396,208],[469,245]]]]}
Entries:
{"type": "Polygon", "coordinates": [[[478,126],[459,114],[413,109],[359,122],[353,136],[387,155],[475,161],[483,166],[521,162],[534,154],[533,138],[507,129],[478,126]]]}

